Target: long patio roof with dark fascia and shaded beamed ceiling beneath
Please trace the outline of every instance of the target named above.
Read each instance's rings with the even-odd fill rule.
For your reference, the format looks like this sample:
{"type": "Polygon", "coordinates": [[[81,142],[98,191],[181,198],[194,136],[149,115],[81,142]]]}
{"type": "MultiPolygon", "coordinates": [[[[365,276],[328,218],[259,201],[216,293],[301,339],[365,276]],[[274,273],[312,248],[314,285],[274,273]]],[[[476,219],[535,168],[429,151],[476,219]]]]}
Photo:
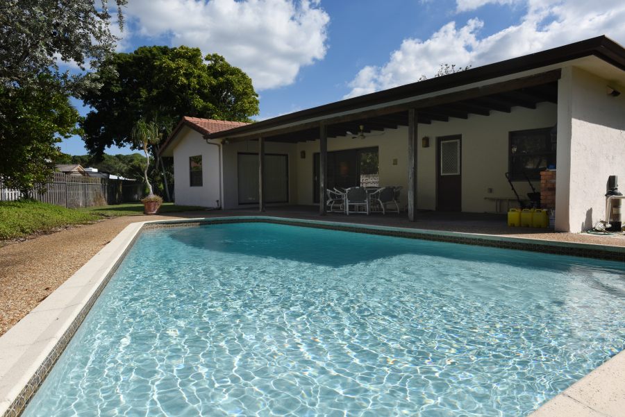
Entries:
{"type": "Polygon", "coordinates": [[[418,123],[447,121],[450,117],[466,119],[469,114],[488,115],[491,111],[510,112],[514,106],[535,108],[540,102],[557,102],[557,80],[560,69],[549,66],[585,57],[596,57],[620,70],[625,70],[625,49],[606,36],[594,37],[574,44],[476,67],[447,76],[431,78],[258,121],[247,126],[222,130],[208,135],[210,139],[256,139],[299,142],[319,137],[319,123],[328,127],[328,137],[408,126],[410,108],[417,109],[418,123]],[[532,74],[513,80],[475,87],[494,78],[501,78],[540,68],[532,74]],[[555,69],[554,69],[555,68],[555,69]],[[462,90],[467,86],[466,90],[462,90]],[[446,90],[456,90],[446,92],[446,90]],[[458,90],[460,89],[460,90],[458,90]]]}

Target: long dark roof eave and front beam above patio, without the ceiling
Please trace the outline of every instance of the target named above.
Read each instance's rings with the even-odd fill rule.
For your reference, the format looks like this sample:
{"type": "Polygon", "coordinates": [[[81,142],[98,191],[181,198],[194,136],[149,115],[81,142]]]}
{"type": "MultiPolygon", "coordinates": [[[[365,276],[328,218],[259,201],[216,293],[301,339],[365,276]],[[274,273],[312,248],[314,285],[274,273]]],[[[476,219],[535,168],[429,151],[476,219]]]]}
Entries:
{"type": "Polygon", "coordinates": [[[573,62],[590,67],[593,62],[605,62],[616,71],[622,72],[625,71],[625,49],[606,36],[594,37],[547,51],[223,130],[209,134],[208,138],[243,140],[260,136],[279,137],[318,128],[321,123],[332,125],[392,116],[409,108],[431,110],[437,105],[457,103],[463,99],[548,85],[560,78],[562,67],[572,65],[573,62]]]}

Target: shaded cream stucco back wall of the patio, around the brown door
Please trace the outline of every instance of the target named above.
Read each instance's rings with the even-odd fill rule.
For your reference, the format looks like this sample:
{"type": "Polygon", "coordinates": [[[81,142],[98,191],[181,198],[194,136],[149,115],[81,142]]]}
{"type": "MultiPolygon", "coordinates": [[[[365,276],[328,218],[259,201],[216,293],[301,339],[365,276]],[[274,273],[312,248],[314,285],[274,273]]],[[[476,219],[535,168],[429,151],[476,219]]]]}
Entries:
{"type": "MultiPolygon", "coordinates": [[[[468,119],[450,118],[431,125],[419,124],[417,145],[417,205],[435,210],[436,206],[436,137],[462,135],[462,211],[494,211],[494,201],[487,196],[514,197],[505,173],[508,171],[508,133],[512,130],[547,128],[556,124],[557,106],[540,103],[535,110],[512,108],[512,112],[491,112],[490,116],[469,115],[468,119]],[[430,146],[422,148],[421,138],[430,137],[430,146]],[[491,188],[492,193],[487,189],[491,188]]],[[[383,135],[365,139],[351,137],[328,138],[328,151],[378,146],[380,185],[401,185],[402,207],[407,204],[408,128],[385,130],[383,135]],[[392,162],[397,159],[397,165],[392,162]]],[[[313,203],[313,153],[319,151],[319,141],[297,145],[306,151],[306,160],[298,159],[298,203],[313,203]]],[[[535,187],[540,187],[536,181],[535,187]]],[[[526,182],[515,182],[519,195],[531,189],[526,182]]]]}

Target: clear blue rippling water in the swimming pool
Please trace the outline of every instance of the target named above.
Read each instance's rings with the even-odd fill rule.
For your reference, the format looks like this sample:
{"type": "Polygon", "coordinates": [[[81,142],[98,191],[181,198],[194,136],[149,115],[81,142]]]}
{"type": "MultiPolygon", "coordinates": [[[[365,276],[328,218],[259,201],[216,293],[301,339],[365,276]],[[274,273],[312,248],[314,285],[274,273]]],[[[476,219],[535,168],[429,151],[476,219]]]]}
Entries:
{"type": "Polygon", "coordinates": [[[522,416],[624,348],[624,312],[615,262],[151,230],[24,416],[522,416]]]}

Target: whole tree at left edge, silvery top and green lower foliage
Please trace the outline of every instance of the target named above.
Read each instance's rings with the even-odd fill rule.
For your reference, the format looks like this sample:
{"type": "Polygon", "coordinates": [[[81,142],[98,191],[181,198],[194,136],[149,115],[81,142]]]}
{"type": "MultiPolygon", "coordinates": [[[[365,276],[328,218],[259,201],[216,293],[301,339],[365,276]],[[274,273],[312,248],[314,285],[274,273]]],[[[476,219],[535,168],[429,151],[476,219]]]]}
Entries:
{"type": "MultiPolygon", "coordinates": [[[[111,2],[113,3],[113,2],[111,2]]],[[[121,7],[115,0],[121,27],[121,7]]],[[[45,182],[61,137],[75,133],[69,96],[98,87],[59,61],[97,69],[113,53],[106,0],[0,1],[0,178],[26,190],[45,182]]]]}

